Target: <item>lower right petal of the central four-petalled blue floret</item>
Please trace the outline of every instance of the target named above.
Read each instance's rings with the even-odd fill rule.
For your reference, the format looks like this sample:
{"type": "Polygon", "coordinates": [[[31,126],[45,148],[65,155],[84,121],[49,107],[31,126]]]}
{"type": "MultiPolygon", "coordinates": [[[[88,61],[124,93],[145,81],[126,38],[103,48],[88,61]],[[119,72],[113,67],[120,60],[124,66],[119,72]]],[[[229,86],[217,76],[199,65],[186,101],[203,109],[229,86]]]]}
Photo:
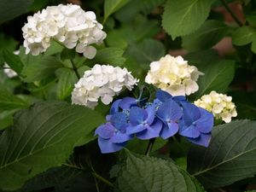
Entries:
{"type": "Polygon", "coordinates": [[[137,133],[136,136],[142,140],[159,137],[161,128],[162,123],[160,120],[155,120],[152,125],[148,126],[146,130],[137,133]]]}

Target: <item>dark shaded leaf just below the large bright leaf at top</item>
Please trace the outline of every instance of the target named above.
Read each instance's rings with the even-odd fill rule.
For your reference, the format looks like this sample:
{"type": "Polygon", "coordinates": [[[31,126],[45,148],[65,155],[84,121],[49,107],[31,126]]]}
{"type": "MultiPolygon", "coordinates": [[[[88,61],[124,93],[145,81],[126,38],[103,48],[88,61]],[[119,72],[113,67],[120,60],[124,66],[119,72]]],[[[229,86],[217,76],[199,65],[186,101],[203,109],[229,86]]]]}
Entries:
{"type": "Polygon", "coordinates": [[[218,20],[207,20],[198,30],[182,38],[189,51],[209,49],[227,35],[229,26],[218,20]]]}

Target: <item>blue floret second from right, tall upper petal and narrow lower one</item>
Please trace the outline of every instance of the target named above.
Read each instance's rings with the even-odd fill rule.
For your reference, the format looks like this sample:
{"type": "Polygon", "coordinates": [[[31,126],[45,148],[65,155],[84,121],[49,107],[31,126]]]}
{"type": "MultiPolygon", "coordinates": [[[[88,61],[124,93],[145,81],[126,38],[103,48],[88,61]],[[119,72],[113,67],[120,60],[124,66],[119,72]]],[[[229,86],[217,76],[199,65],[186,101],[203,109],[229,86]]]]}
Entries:
{"type": "Polygon", "coordinates": [[[166,99],[157,109],[156,115],[164,123],[160,137],[167,139],[177,133],[177,123],[183,115],[182,108],[177,102],[173,101],[172,98],[166,99]]]}

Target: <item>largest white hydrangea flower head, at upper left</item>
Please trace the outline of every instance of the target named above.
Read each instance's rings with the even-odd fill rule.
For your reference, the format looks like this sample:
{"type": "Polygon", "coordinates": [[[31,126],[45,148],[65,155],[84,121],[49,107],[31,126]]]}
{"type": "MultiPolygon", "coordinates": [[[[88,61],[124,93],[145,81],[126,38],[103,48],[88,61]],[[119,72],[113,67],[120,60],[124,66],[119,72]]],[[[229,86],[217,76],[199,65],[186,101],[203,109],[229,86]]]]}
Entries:
{"type": "Polygon", "coordinates": [[[68,49],[75,48],[77,52],[92,59],[96,49],[91,44],[102,44],[107,36],[102,28],[95,13],[85,12],[79,5],[49,6],[28,16],[27,23],[22,27],[26,54],[43,53],[49,48],[50,39],[55,39],[68,49]]]}

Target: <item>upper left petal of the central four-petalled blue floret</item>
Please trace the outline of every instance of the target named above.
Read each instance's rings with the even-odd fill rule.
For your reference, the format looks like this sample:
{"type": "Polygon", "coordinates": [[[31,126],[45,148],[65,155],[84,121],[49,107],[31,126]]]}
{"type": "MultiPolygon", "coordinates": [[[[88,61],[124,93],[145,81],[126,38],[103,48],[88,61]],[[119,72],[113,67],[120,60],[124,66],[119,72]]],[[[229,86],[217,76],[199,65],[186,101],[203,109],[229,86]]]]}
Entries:
{"type": "Polygon", "coordinates": [[[143,123],[148,118],[148,113],[143,108],[133,107],[131,108],[129,119],[131,125],[138,125],[143,123]]]}

